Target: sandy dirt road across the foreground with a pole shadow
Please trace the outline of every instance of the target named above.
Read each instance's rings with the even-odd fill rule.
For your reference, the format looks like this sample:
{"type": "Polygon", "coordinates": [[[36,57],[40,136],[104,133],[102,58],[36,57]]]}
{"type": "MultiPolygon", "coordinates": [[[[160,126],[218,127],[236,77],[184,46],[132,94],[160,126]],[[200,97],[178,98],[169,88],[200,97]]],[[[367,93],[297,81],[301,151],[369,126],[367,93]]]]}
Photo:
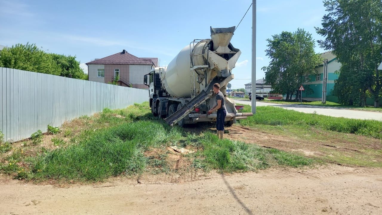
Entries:
{"type": "Polygon", "coordinates": [[[382,169],[336,165],[141,182],[62,188],[2,180],[0,214],[382,214],[382,169]]]}

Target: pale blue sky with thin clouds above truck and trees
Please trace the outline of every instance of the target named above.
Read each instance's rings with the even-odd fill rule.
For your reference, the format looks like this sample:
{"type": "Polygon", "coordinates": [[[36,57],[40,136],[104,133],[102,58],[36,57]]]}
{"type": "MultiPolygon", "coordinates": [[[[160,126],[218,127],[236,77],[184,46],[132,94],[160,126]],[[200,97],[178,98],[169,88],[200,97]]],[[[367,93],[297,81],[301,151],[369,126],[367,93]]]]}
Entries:
{"type": "MultiPolygon", "coordinates": [[[[0,45],[35,43],[47,52],[75,55],[85,63],[126,49],[168,63],[194,39],[209,39],[210,26],[236,26],[251,0],[0,0],[0,45]]],[[[304,28],[317,41],[325,8],[321,0],[257,0],[256,79],[263,78],[266,39],[304,28]]],[[[252,8],[231,39],[241,50],[232,88],[251,82],[252,8]]],[[[325,52],[316,43],[317,53],[325,52]]]]}

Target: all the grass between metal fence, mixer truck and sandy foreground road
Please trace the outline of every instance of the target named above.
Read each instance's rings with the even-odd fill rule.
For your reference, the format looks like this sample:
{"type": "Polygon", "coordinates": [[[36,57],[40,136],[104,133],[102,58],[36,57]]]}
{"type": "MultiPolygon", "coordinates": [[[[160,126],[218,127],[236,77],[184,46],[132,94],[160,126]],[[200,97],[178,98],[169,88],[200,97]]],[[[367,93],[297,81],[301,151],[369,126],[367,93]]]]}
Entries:
{"type": "Polygon", "coordinates": [[[180,127],[170,127],[163,120],[152,117],[148,103],[121,110],[104,109],[99,117],[84,116],[81,120],[91,121],[92,125],[85,123],[88,129],[70,142],[55,138],[53,143],[60,145],[57,149],[41,148],[37,155],[26,157],[13,153],[6,158],[7,163],[0,165],[0,171],[18,179],[36,181],[102,181],[112,176],[141,174],[149,167],[159,169],[158,173],[166,172],[165,169],[170,168],[166,164],[166,154],[146,157],[144,152],[169,145],[196,150],[187,155],[192,160],[191,168],[222,172],[254,171],[275,165],[299,167],[316,162],[277,149],[220,140],[209,131],[201,135],[186,133],[180,127]],[[116,114],[125,118],[115,117],[116,114]],[[18,162],[29,167],[24,169],[16,164],[18,162]]]}

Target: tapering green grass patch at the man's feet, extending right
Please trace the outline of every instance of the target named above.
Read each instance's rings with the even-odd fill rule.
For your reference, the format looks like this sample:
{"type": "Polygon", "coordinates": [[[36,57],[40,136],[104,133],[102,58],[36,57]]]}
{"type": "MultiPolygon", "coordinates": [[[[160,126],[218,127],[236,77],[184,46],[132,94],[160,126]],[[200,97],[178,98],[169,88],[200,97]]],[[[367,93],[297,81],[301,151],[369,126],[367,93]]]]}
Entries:
{"type": "MultiPolygon", "coordinates": [[[[211,132],[204,132],[199,137],[199,142],[203,150],[199,155],[196,154],[196,157],[204,156],[205,162],[200,166],[220,171],[255,171],[275,165],[300,167],[316,162],[311,158],[274,148],[264,148],[228,139],[220,140],[211,132]]],[[[197,161],[202,163],[200,159],[197,161]]]]}

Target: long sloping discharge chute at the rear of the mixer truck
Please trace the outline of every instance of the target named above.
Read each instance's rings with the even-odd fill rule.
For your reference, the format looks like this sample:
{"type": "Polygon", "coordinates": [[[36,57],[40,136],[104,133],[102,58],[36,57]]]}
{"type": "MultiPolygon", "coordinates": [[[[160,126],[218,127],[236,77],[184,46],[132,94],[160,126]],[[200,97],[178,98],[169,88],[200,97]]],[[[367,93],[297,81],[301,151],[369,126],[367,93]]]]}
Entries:
{"type": "Polygon", "coordinates": [[[175,125],[179,120],[183,119],[187,114],[189,114],[191,111],[194,110],[195,107],[199,106],[203,102],[205,102],[207,99],[211,98],[214,94],[214,91],[212,91],[212,87],[215,83],[219,83],[220,86],[224,86],[228,84],[231,80],[233,80],[233,75],[230,75],[226,78],[222,77],[215,77],[210,81],[210,83],[207,85],[204,90],[201,91],[195,98],[191,99],[188,103],[186,103],[181,109],[177,110],[174,114],[171,116],[168,116],[165,121],[169,125],[175,125]]]}

